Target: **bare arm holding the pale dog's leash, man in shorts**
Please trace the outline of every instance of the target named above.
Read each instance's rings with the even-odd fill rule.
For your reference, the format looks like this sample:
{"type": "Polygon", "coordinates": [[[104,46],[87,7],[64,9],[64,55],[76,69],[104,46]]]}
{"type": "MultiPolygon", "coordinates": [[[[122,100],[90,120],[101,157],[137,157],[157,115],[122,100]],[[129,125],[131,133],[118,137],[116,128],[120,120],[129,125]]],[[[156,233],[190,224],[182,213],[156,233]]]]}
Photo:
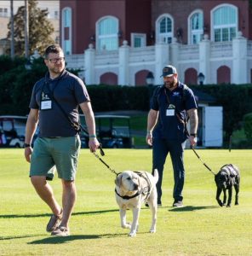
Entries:
{"type": "Polygon", "coordinates": [[[80,104],[80,108],[83,111],[83,114],[85,116],[86,125],[89,131],[89,148],[91,152],[95,152],[97,148],[99,148],[100,143],[98,142],[96,138],[95,133],[95,120],[94,120],[94,112],[91,107],[90,102],[83,102],[80,104]]]}

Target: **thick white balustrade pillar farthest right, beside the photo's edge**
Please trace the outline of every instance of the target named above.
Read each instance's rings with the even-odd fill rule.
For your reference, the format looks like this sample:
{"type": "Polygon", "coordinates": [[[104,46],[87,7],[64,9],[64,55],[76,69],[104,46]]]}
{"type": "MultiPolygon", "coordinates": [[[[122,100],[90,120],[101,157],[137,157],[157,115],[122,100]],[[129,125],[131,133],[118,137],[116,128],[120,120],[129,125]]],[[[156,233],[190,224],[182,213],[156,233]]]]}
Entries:
{"type": "Polygon", "coordinates": [[[242,32],[238,32],[237,38],[232,39],[232,84],[249,83],[247,45],[247,39],[243,38],[242,32]]]}

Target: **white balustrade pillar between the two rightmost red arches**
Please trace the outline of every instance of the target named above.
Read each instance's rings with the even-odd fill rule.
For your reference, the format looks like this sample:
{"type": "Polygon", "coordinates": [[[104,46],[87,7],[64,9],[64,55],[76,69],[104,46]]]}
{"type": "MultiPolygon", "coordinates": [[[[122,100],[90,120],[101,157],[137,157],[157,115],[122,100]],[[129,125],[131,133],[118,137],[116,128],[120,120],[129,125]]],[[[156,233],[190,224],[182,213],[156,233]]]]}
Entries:
{"type": "Polygon", "coordinates": [[[205,79],[203,84],[215,83],[210,80],[210,41],[208,35],[203,35],[203,40],[199,42],[199,68],[198,74],[203,73],[205,79]]]}

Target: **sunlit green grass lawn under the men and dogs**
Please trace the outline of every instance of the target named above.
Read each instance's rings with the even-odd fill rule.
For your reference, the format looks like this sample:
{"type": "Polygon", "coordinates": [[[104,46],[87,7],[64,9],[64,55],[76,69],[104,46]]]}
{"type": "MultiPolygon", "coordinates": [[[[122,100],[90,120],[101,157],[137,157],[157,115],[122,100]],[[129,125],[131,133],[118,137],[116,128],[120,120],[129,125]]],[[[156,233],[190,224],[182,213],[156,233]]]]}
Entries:
{"type": "MultiPolygon", "coordinates": [[[[151,172],[151,149],[105,149],[116,172],[151,172]]],[[[252,255],[252,150],[198,149],[214,172],[226,163],[239,166],[239,206],[218,207],[214,176],[186,149],[184,204],[172,208],[173,176],[168,158],[163,177],[163,207],[157,233],[149,234],[151,212],[142,207],[136,237],[120,227],[114,195],[115,175],[88,149],[82,149],[77,172],[77,204],[68,237],[45,232],[49,208],[31,186],[23,149],[0,149],[0,255],[252,255]]],[[[51,183],[60,201],[60,180],[51,183]]],[[[127,212],[129,221],[131,212],[127,212]]]]}

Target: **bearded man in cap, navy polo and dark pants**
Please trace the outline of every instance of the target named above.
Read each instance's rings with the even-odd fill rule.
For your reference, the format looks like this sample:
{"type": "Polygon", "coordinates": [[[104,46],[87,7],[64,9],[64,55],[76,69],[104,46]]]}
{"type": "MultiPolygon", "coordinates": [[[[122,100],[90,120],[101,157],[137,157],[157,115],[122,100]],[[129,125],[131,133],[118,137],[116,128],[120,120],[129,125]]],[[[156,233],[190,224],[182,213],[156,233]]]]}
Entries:
{"type": "Polygon", "coordinates": [[[176,68],[163,67],[163,85],[154,91],[148,113],[146,143],[152,146],[152,170],[158,169],[158,206],[162,205],[163,166],[168,154],[174,170],[173,207],[183,207],[185,182],[184,148],[188,138],[197,143],[198,112],[192,90],[178,80],[176,68]],[[190,133],[186,128],[190,119],[190,133]]]}

